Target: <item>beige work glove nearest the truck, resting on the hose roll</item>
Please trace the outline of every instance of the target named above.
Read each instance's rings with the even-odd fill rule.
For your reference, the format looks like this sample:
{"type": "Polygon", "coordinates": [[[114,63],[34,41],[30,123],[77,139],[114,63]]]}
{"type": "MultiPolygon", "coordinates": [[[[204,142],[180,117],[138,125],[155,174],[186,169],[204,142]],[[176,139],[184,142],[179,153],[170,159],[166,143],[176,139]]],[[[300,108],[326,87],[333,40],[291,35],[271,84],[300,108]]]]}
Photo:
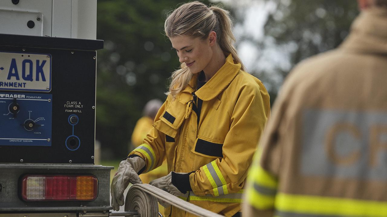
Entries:
{"type": "Polygon", "coordinates": [[[118,211],[120,206],[124,205],[123,191],[129,183],[142,184],[137,173],[144,168],[145,161],[140,157],[127,158],[121,161],[118,171],[113,177],[110,185],[111,206],[113,210],[118,211]]]}

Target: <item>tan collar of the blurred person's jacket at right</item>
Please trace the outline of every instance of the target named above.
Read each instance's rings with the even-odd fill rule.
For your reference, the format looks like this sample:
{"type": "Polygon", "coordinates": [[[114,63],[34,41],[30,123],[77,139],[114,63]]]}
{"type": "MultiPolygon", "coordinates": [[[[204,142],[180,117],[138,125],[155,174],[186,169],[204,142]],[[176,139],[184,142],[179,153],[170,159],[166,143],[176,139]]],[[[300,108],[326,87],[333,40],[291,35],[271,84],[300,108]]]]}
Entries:
{"type": "Polygon", "coordinates": [[[363,10],[351,26],[351,34],[340,46],[364,53],[387,54],[387,9],[363,10]]]}

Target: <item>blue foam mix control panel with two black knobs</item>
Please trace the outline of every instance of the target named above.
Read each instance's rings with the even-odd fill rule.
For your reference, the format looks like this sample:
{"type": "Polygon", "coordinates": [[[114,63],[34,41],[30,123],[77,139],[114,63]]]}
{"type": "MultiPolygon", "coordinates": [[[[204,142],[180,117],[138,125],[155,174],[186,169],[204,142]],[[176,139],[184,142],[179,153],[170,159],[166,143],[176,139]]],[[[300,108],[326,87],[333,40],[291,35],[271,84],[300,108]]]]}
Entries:
{"type": "Polygon", "coordinates": [[[51,146],[52,95],[0,92],[0,146],[51,146]]]}

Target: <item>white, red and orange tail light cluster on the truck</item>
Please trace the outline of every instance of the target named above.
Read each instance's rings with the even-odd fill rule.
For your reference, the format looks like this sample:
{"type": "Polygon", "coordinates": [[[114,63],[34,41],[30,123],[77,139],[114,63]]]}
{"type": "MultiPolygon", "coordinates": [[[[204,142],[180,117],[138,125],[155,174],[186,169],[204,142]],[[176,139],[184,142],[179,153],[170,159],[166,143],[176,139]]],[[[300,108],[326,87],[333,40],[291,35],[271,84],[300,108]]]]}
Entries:
{"type": "Polygon", "coordinates": [[[98,195],[98,180],[92,175],[25,175],[25,201],[91,201],[98,195]]]}

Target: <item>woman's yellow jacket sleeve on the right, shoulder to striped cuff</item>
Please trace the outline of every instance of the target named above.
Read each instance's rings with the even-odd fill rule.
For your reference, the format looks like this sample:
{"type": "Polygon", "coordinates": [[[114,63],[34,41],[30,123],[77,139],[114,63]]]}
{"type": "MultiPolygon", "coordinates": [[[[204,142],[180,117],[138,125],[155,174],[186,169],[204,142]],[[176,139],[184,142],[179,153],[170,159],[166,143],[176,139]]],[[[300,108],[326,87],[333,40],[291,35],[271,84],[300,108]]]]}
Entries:
{"type": "Polygon", "coordinates": [[[240,192],[270,113],[269,95],[263,85],[244,85],[239,92],[225,93],[228,102],[235,105],[228,112],[230,129],[223,143],[223,158],[190,175],[192,191],[199,196],[240,192]]]}

